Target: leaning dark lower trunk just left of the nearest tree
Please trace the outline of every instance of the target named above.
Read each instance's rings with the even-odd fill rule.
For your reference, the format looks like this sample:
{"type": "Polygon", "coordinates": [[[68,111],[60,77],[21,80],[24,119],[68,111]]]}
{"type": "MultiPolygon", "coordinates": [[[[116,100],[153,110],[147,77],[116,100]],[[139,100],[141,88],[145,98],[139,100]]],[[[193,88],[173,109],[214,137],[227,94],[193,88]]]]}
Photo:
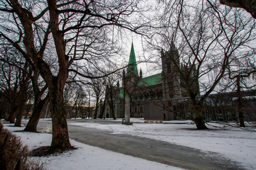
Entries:
{"type": "Polygon", "coordinates": [[[35,106],[33,108],[33,113],[31,115],[31,118],[29,119],[28,124],[26,125],[26,128],[23,131],[37,132],[36,127],[38,125],[40,115],[43,111],[43,108],[45,108],[47,104],[48,104],[48,98],[45,98],[41,101],[35,101],[35,106]]]}

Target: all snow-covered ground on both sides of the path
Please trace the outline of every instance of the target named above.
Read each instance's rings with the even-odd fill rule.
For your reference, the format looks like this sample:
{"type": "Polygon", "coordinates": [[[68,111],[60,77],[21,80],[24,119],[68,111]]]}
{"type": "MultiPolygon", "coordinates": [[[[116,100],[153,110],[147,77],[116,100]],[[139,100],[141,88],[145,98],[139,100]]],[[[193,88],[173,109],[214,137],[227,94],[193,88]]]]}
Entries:
{"type": "MultiPolygon", "coordinates": [[[[121,120],[117,120],[121,121],[121,120]]],[[[195,130],[191,122],[142,123],[133,119],[133,125],[117,123],[70,123],[89,128],[109,130],[114,134],[129,134],[148,137],[154,140],[171,142],[201,149],[203,152],[216,152],[232,161],[239,162],[245,169],[256,169],[256,129],[240,129],[225,126],[225,130],[209,126],[210,130],[195,130]]],[[[4,124],[11,131],[22,130],[4,124]]],[[[223,127],[219,124],[210,124],[223,127]]],[[[47,133],[15,132],[30,149],[50,145],[51,135],[47,133]]],[[[42,157],[47,169],[178,169],[174,166],[149,162],[98,147],[84,145],[70,140],[75,149],[64,154],[42,157]]]]}

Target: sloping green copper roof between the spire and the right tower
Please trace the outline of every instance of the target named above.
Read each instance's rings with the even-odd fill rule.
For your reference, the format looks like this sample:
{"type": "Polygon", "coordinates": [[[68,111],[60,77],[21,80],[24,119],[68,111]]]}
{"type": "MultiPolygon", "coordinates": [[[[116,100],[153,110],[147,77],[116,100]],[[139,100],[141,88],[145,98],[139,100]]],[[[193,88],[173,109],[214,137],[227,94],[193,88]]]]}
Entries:
{"type": "Polygon", "coordinates": [[[137,86],[153,86],[156,84],[162,84],[161,73],[139,80],[137,86]]]}

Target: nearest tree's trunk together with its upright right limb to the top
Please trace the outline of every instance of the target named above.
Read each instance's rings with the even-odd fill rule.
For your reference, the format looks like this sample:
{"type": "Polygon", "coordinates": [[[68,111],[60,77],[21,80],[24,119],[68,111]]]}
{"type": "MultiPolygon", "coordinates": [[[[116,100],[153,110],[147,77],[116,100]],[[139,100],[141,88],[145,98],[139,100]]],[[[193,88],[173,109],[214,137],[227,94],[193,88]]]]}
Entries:
{"type": "MultiPolygon", "coordinates": [[[[53,35],[55,50],[58,55],[59,72],[58,76],[54,77],[50,73],[50,67],[45,67],[47,70],[41,69],[41,75],[46,80],[49,89],[50,111],[53,121],[53,138],[51,147],[62,150],[71,149],[68,137],[68,125],[66,120],[65,104],[63,98],[63,89],[65,81],[68,79],[68,55],[65,55],[64,34],[59,30],[59,14],[57,1],[48,0],[50,30],[53,35]],[[46,73],[46,74],[44,74],[46,73]]],[[[46,63],[42,63],[46,64],[46,63]]],[[[40,67],[39,67],[40,68],[40,67]]]]}

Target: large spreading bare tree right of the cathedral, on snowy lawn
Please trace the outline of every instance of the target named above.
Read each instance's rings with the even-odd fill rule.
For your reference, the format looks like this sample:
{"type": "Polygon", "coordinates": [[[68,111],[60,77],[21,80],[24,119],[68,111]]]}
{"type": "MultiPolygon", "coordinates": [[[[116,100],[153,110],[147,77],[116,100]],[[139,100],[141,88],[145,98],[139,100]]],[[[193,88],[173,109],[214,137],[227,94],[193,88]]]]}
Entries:
{"type": "MultiPolygon", "coordinates": [[[[217,2],[216,2],[217,3],[217,2]]],[[[190,98],[198,129],[206,129],[203,101],[226,76],[233,55],[250,49],[255,21],[242,20],[242,11],[200,1],[166,4],[161,18],[159,50],[169,52],[169,60],[178,72],[175,86],[181,86],[190,98]],[[243,49],[243,50],[241,50],[243,49]],[[178,57],[174,57],[178,56],[178,57]]]]}

